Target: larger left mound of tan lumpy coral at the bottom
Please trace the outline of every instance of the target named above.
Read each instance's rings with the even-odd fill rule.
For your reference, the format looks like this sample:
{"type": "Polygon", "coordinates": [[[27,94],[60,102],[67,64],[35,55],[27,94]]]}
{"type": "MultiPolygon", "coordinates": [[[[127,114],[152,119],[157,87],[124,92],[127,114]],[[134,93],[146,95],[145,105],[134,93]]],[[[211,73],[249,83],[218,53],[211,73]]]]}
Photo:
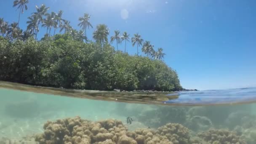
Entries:
{"type": "Polygon", "coordinates": [[[124,141],[121,136],[127,132],[118,120],[91,122],[80,117],[48,121],[43,128],[44,133],[35,139],[40,144],[116,144],[124,141]]]}

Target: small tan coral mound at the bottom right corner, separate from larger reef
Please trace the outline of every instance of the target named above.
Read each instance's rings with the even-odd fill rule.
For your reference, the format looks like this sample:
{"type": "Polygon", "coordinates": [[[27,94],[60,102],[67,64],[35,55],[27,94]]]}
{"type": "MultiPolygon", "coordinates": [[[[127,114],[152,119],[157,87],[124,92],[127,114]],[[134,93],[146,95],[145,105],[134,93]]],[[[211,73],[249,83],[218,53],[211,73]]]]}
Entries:
{"type": "Polygon", "coordinates": [[[210,129],[197,136],[210,144],[247,144],[234,131],[224,129],[210,129]]]}

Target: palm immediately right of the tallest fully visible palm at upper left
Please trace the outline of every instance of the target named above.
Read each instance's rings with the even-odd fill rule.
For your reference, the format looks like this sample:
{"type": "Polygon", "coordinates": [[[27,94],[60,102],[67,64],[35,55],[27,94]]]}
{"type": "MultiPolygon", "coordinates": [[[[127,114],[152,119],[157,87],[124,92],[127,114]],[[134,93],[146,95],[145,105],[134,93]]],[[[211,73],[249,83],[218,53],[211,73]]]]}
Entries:
{"type": "Polygon", "coordinates": [[[49,29],[49,36],[51,36],[51,28],[52,27],[57,27],[58,25],[58,22],[55,21],[55,16],[56,16],[56,13],[54,12],[51,12],[51,14],[47,13],[46,14],[46,19],[44,19],[44,23],[42,24],[43,27],[47,27],[47,31],[46,31],[46,34],[48,34],[48,29],[49,29]]]}

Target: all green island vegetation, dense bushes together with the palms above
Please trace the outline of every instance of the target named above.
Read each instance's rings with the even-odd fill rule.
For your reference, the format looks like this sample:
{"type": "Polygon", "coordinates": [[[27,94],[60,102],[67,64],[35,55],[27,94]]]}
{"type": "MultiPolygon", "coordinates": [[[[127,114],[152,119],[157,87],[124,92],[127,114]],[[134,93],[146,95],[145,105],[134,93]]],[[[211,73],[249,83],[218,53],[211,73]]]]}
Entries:
{"type": "MultiPolygon", "coordinates": [[[[28,0],[15,0],[20,13],[27,10],[28,0]]],[[[36,6],[36,12],[28,17],[27,30],[19,28],[19,22],[8,24],[0,19],[0,80],[46,85],[53,87],[112,90],[182,89],[175,70],[161,59],[163,48],[154,45],[138,33],[129,37],[119,30],[110,38],[116,41],[117,51],[109,45],[109,29],[99,24],[93,32],[95,42],[88,40],[86,29],[93,28],[88,13],[78,20],[80,31],[73,29],[70,21],[62,19],[63,11],[48,13],[48,7],[36,6]],[[37,40],[39,28],[46,27],[44,37],[37,40]],[[53,35],[52,31],[54,29],[53,35]],[[56,34],[56,30],[64,34],[56,34]],[[55,35],[56,34],[56,35],[55,35]],[[126,53],[126,42],[137,46],[137,56],[126,53]],[[85,43],[84,43],[85,40],[85,43]],[[118,44],[125,41],[125,52],[118,51],[118,44]],[[147,56],[139,56],[139,46],[147,56]]]]}

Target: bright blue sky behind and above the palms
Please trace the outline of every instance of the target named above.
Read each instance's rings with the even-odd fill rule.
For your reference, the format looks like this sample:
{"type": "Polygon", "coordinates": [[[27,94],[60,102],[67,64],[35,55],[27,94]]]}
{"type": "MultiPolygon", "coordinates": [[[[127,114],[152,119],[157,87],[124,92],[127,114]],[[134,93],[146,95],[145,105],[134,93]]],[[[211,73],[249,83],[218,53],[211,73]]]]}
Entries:
{"type": "MultiPolygon", "coordinates": [[[[155,48],[162,47],[164,61],[176,69],[184,88],[225,89],[256,86],[256,1],[255,0],[29,0],[20,27],[35,5],[48,12],[63,10],[63,18],[77,27],[83,13],[91,15],[93,29],[107,24],[114,30],[139,32],[155,48]]],[[[0,17],[18,21],[13,0],[0,1],[0,17]]],[[[39,37],[45,34],[41,28],[39,37]]],[[[115,46],[115,43],[113,43],[115,46]]],[[[124,51],[124,44],[119,46],[124,51]]],[[[136,47],[127,44],[130,54],[136,47]]],[[[140,50],[140,49],[139,49],[140,50]]]]}

